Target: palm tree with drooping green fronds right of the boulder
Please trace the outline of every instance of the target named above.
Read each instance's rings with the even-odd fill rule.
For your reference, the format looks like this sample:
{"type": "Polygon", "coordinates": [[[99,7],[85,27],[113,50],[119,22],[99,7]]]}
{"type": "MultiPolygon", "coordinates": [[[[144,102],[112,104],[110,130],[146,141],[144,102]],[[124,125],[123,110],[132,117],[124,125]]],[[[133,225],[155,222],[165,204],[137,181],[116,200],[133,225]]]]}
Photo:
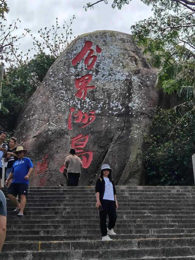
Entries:
{"type": "Polygon", "coordinates": [[[183,102],[175,111],[183,114],[195,107],[195,53],[179,45],[174,53],[176,58],[170,56],[161,68],[155,90],[164,88],[168,94],[174,91],[183,102]]]}

